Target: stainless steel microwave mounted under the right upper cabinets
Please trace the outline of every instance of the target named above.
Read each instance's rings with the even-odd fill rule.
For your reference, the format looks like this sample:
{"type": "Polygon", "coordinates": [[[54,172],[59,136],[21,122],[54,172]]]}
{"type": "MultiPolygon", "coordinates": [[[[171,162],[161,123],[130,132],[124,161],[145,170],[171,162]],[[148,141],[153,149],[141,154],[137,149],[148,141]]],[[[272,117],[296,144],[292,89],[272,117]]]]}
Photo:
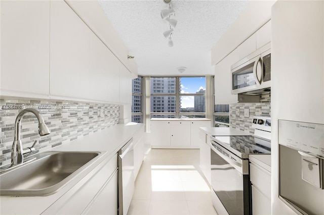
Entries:
{"type": "Polygon", "coordinates": [[[270,43],[231,66],[232,94],[270,91],[270,43]]]}

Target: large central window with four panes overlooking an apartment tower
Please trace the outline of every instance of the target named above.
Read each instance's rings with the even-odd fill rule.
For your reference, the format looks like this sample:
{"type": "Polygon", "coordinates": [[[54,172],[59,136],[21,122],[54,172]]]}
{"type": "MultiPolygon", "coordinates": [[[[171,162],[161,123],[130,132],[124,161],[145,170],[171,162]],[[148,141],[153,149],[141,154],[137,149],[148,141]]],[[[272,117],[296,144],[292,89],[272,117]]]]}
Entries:
{"type": "Polygon", "coordinates": [[[205,77],[151,77],[150,83],[151,118],[206,117],[205,77]]]}

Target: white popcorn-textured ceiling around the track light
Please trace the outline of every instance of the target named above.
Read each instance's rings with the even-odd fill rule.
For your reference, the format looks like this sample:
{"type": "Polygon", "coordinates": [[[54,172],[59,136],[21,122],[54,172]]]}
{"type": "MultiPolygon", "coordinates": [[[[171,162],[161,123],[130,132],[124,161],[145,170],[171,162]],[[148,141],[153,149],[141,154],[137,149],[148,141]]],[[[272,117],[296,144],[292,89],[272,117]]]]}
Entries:
{"type": "Polygon", "coordinates": [[[174,46],[168,46],[163,32],[169,29],[160,11],[168,9],[158,1],[98,1],[108,19],[135,57],[141,75],[214,74],[211,49],[250,1],[172,1],[178,20],[174,46]]]}

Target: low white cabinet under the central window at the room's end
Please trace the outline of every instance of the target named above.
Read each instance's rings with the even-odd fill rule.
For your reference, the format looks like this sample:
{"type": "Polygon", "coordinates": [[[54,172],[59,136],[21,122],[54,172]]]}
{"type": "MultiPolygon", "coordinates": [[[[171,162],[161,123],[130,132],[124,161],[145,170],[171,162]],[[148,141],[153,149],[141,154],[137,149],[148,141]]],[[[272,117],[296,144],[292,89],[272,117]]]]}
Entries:
{"type": "Polygon", "coordinates": [[[210,120],[151,120],[151,147],[199,148],[199,127],[210,120]]]}

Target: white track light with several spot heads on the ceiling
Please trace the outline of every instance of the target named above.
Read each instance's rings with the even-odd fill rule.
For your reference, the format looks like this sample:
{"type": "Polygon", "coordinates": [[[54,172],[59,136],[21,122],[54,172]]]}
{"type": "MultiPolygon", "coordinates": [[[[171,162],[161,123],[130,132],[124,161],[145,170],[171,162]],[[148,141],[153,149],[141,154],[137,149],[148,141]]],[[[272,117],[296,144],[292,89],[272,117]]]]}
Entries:
{"type": "Polygon", "coordinates": [[[173,46],[172,33],[173,33],[174,28],[176,27],[176,25],[178,23],[177,20],[170,18],[171,15],[175,16],[175,12],[172,9],[171,1],[172,0],[163,0],[163,2],[165,4],[169,5],[169,9],[163,9],[163,10],[161,10],[161,13],[160,13],[161,18],[166,20],[169,23],[169,28],[170,29],[163,33],[164,37],[169,39],[169,41],[168,41],[169,47],[173,46]]]}

